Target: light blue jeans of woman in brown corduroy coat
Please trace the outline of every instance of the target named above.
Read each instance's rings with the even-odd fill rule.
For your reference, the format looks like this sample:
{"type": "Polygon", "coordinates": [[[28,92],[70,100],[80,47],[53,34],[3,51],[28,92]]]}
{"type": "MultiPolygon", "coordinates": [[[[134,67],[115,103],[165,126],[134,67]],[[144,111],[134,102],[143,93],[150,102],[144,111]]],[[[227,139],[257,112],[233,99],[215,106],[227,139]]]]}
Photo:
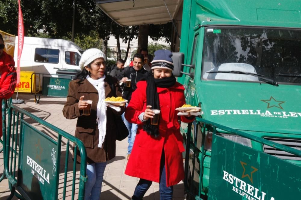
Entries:
{"type": "Polygon", "coordinates": [[[101,184],[104,179],[104,169],[107,162],[87,164],[88,180],[85,185],[85,200],[100,199],[101,184]]]}

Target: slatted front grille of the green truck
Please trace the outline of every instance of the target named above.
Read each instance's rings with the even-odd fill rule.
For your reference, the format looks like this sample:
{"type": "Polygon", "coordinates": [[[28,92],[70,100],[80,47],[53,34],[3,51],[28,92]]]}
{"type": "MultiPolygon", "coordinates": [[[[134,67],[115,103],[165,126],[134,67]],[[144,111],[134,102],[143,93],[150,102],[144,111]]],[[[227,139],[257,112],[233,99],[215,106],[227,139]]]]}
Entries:
{"type": "MultiPolygon", "coordinates": [[[[296,140],[296,139],[283,139],[283,138],[264,138],[266,140],[278,143],[278,144],[283,144],[285,146],[301,150],[301,140],[296,140]]],[[[263,151],[265,153],[268,153],[270,155],[276,156],[281,159],[287,159],[287,160],[301,160],[301,157],[296,156],[294,154],[288,153],[286,151],[282,151],[279,149],[276,149],[274,147],[270,147],[268,145],[263,144],[263,151]]]]}

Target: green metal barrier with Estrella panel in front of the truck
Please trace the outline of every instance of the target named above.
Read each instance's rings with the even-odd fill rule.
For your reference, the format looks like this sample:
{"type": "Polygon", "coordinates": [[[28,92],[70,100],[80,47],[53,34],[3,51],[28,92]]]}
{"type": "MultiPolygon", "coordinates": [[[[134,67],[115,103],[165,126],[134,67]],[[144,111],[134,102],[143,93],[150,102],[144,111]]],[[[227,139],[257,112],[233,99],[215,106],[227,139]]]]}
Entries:
{"type": "Polygon", "coordinates": [[[225,139],[216,134],[217,129],[301,157],[300,150],[197,117],[196,121],[188,124],[186,137],[184,185],[188,196],[192,199],[209,200],[277,200],[300,197],[301,166],[225,139]],[[213,133],[210,152],[205,149],[208,141],[204,138],[208,132],[213,133]],[[200,136],[201,141],[198,140],[200,136]],[[204,188],[203,166],[208,164],[208,155],[211,156],[209,188],[204,188]],[[188,172],[189,169],[191,173],[188,172]]]}

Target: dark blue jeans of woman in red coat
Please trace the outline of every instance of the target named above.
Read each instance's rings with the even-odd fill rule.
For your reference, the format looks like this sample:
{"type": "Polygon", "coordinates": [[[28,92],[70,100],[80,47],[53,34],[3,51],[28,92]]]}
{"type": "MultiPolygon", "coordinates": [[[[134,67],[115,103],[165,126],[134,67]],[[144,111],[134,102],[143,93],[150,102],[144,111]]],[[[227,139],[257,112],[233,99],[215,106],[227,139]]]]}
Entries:
{"type": "MultiPolygon", "coordinates": [[[[164,154],[161,158],[161,173],[160,173],[160,183],[159,183],[159,192],[160,192],[160,200],[171,200],[173,193],[173,186],[166,186],[166,171],[165,171],[165,158],[164,154]],[[163,168],[162,168],[163,166],[163,168]]],[[[152,181],[140,179],[137,184],[134,195],[132,196],[133,200],[142,200],[148,188],[150,188],[152,181]]]]}

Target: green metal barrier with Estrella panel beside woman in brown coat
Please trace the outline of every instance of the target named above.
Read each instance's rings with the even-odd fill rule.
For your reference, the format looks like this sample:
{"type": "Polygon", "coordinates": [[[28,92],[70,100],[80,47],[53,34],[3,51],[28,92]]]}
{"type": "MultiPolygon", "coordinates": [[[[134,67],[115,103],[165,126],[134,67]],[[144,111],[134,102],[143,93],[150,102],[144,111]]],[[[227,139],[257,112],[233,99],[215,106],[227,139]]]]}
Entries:
{"type": "Polygon", "coordinates": [[[5,108],[3,100],[4,174],[11,189],[8,199],[14,195],[20,199],[58,199],[59,187],[63,187],[60,198],[65,199],[67,174],[68,170],[70,171],[70,166],[68,167],[70,142],[73,142],[73,148],[80,152],[81,157],[78,176],[76,175],[76,154],[74,155],[71,168],[71,198],[74,199],[75,181],[79,179],[78,199],[84,199],[87,158],[82,141],[15,105],[7,108],[8,116],[6,117],[5,108]],[[39,126],[33,126],[33,122],[38,123],[39,126]],[[67,140],[67,143],[64,148],[66,150],[65,165],[60,169],[61,159],[64,159],[61,157],[62,140],[67,140]],[[64,176],[63,183],[59,183],[60,173],[64,176]]]}

